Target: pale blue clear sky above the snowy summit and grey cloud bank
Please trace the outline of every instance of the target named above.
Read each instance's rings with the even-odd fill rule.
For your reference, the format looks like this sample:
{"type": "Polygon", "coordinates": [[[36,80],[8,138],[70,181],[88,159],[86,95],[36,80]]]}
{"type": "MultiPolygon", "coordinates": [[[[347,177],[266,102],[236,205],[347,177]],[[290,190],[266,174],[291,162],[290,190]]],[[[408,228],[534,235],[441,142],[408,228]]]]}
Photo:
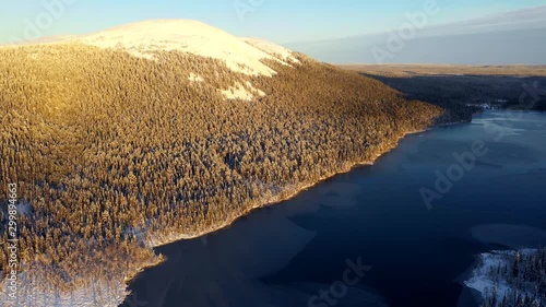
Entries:
{"type": "MultiPolygon", "coordinates": [[[[0,43],[24,37],[27,23],[46,11],[44,3],[63,0],[0,2],[0,43]]],[[[66,0],[69,1],[69,0],[66,0]]],[[[44,36],[83,34],[149,19],[194,19],[238,36],[275,43],[329,39],[396,28],[406,12],[427,0],[70,0],[44,36]],[[242,4],[241,3],[246,3],[242,4]],[[258,3],[240,19],[234,9],[258,3]]],[[[437,0],[441,12],[429,25],[482,17],[546,4],[546,0],[437,0]]],[[[250,7],[247,7],[250,8],[250,7]]]]}

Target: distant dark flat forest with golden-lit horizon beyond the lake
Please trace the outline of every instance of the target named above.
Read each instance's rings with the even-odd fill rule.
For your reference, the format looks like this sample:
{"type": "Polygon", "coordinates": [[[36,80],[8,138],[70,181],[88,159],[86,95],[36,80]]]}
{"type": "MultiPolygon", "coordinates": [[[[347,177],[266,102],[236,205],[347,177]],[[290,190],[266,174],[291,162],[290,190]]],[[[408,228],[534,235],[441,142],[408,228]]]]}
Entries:
{"type": "Polygon", "coordinates": [[[351,64],[355,70],[446,109],[439,121],[471,121],[483,108],[546,110],[546,66],[351,64]]]}

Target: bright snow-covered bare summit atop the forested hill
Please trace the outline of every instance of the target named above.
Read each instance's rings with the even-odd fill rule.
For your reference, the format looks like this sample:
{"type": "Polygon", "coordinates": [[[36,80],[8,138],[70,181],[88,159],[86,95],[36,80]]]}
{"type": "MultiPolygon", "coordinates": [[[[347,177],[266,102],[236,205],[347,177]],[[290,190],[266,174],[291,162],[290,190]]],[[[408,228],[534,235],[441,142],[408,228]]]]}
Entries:
{"type": "Polygon", "coordinates": [[[157,50],[189,52],[225,61],[229,69],[246,74],[275,74],[262,59],[276,59],[285,64],[297,61],[288,49],[273,43],[239,38],[193,20],[144,21],[72,39],[102,48],[122,48],[149,59],[157,50]]]}

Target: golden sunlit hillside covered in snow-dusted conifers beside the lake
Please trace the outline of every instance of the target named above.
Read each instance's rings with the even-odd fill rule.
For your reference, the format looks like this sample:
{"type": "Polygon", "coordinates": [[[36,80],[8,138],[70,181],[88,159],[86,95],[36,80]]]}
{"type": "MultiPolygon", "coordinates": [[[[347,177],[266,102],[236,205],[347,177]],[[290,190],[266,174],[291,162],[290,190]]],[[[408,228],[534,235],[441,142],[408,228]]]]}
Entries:
{"type": "MultiPolygon", "coordinates": [[[[158,260],[152,246],[373,161],[442,114],[302,55],[292,66],[265,60],[272,78],[179,51],[154,56],[0,48],[0,203],[17,184],[27,205],[20,261],[46,290],[131,275],[158,260]],[[264,95],[227,99],[218,90],[236,84],[264,95]]],[[[3,271],[8,257],[2,249],[3,271]]]]}

